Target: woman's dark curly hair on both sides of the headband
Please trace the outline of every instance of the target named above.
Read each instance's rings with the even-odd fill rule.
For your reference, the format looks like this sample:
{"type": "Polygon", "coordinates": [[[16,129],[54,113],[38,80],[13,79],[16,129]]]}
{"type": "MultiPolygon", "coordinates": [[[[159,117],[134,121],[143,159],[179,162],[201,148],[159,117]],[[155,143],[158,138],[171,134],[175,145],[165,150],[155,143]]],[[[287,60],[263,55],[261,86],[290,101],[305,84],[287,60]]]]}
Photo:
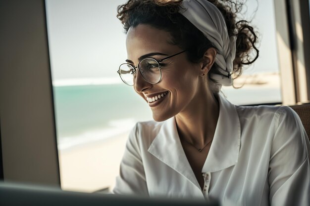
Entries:
{"type": "MultiPolygon", "coordinates": [[[[258,58],[257,35],[248,21],[236,21],[242,2],[232,0],[208,0],[223,14],[229,37],[236,36],[236,56],[233,61],[233,77],[242,74],[242,66],[252,64],[258,58]],[[252,49],[256,56],[251,59],[252,49]]],[[[187,51],[189,61],[203,60],[206,50],[214,47],[205,35],[179,13],[182,0],[128,0],[117,7],[117,18],[122,22],[125,33],[130,27],[148,24],[171,34],[171,44],[187,51]]],[[[215,47],[214,47],[215,48],[215,47]]],[[[214,64],[210,73],[221,74],[214,64]]],[[[210,79],[212,82],[215,80],[210,79]]]]}

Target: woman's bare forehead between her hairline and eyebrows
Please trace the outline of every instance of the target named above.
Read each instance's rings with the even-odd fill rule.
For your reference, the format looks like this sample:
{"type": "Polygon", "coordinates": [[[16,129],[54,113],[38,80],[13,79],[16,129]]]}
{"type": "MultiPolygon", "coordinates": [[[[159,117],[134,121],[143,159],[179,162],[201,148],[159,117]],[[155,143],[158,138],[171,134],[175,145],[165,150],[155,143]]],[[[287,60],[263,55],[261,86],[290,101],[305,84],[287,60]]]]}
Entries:
{"type": "Polygon", "coordinates": [[[146,24],[131,27],[126,36],[128,59],[136,61],[140,56],[151,52],[170,53],[175,50],[178,51],[178,46],[169,42],[171,42],[169,32],[146,24]]]}

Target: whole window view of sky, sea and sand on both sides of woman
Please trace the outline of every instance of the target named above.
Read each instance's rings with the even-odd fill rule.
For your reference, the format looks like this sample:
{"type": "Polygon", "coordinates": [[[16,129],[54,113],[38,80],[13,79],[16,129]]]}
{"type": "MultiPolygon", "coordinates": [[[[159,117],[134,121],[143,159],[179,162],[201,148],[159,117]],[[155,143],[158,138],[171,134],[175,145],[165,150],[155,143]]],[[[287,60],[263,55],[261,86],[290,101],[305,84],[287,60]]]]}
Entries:
{"type": "MultiPolygon", "coordinates": [[[[129,130],[151,120],[147,104],[116,70],[127,57],[116,6],[125,0],[46,0],[61,185],[65,190],[111,188],[129,130]]],[[[252,15],[256,0],[248,1],[252,15]]],[[[260,57],[236,86],[235,104],[281,102],[273,2],[261,0],[253,20],[260,57]],[[268,22],[268,24],[265,24],[268,22]]]]}

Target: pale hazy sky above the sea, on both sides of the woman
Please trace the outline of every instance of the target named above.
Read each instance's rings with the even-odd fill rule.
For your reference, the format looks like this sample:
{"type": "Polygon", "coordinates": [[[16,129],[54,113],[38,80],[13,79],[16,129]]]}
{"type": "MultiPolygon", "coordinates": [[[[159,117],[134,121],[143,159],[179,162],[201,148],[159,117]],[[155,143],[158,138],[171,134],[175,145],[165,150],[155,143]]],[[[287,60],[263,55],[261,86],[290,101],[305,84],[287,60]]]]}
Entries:
{"type": "MultiPolygon", "coordinates": [[[[116,7],[125,1],[46,0],[53,82],[104,78],[121,83],[116,71],[127,59],[126,35],[116,7]]],[[[253,24],[260,37],[259,58],[246,71],[251,74],[278,71],[273,1],[258,1],[247,1],[246,15],[258,8],[253,24]]]]}

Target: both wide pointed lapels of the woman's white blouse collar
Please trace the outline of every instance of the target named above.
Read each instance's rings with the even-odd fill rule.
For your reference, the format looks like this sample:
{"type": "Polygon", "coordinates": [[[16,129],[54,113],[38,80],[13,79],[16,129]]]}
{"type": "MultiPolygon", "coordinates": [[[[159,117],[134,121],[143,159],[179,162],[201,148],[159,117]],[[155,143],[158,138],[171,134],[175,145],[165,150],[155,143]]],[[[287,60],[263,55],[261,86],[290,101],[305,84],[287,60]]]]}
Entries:
{"type": "MultiPolygon", "coordinates": [[[[235,106],[221,95],[218,95],[218,101],[219,117],[203,173],[219,171],[238,162],[241,139],[238,113],[235,106]]],[[[199,186],[181,145],[174,117],[162,124],[148,151],[199,186]]]]}

